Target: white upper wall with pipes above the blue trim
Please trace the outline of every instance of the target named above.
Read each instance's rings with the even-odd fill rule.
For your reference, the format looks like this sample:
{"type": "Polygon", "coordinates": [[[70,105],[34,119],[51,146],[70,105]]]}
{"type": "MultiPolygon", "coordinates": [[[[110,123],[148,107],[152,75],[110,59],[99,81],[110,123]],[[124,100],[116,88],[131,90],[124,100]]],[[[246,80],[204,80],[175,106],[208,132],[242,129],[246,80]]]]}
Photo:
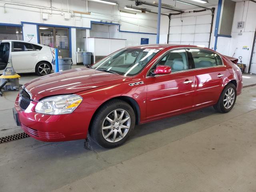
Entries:
{"type": "Polygon", "coordinates": [[[63,26],[76,26],[90,28],[90,21],[104,21],[120,24],[123,31],[156,33],[157,15],[152,13],[137,13],[136,15],[119,12],[118,6],[88,1],[69,1],[69,11],[74,15],[70,19],[64,19],[61,12],[67,12],[67,1],[52,0],[50,8],[49,0],[23,0],[14,3],[12,0],[0,2],[0,23],[20,24],[20,22],[34,22],[63,26]],[[25,6],[26,4],[26,6],[25,6]],[[62,9],[63,7],[63,9],[62,9]],[[86,12],[91,15],[74,14],[72,11],[86,12]],[[48,20],[42,19],[42,14],[48,13],[48,20]]]}

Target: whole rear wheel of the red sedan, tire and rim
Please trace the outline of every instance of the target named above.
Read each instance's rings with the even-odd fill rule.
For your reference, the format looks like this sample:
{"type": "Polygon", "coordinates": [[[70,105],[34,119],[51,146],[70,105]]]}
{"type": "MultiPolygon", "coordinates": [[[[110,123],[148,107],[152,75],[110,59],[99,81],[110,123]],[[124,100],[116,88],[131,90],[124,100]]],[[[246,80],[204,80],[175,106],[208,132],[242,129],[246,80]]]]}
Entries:
{"type": "Polygon", "coordinates": [[[232,83],[229,83],[223,89],[218,102],[213,107],[218,112],[227,113],[234,107],[235,102],[236,86],[232,83]]]}

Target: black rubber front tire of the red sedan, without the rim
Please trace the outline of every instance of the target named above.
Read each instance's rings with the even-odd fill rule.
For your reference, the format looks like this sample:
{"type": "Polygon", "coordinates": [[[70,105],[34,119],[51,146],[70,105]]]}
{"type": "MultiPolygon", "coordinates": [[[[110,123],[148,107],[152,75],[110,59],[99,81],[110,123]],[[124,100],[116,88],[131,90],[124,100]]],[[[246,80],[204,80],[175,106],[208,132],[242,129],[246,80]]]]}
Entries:
{"type": "MultiPolygon", "coordinates": [[[[127,113],[125,113],[125,114],[127,114],[127,113]]],[[[124,118],[125,117],[127,118],[128,116],[125,116],[125,114],[124,114],[124,118]]],[[[114,113],[113,113],[113,115],[114,115],[114,113]]],[[[119,117],[121,116],[120,114],[117,114],[117,116],[118,115],[119,115],[119,117]]],[[[111,118],[111,120],[112,119],[115,119],[114,116],[113,116],[113,118],[111,118]]],[[[119,122],[120,124],[121,124],[121,121],[122,120],[120,120],[120,122],[119,122]]],[[[116,122],[118,122],[118,121],[115,120],[114,123],[116,123],[116,122]]],[[[119,123],[116,123],[115,126],[120,125],[119,123]]],[[[124,122],[124,124],[125,123],[126,122],[124,122]]],[[[111,100],[111,101],[107,102],[106,104],[104,104],[103,106],[101,106],[100,109],[98,110],[98,112],[95,114],[94,118],[92,119],[90,135],[92,136],[93,140],[98,145],[100,145],[104,148],[113,148],[116,146],[120,146],[120,145],[124,144],[124,142],[126,142],[128,137],[130,136],[132,130],[134,129],[134,126],[135,126],[135,114],[134,114],[134,110],[132,109],[132,107],[128,103],[126,103],[122,100],[115,99],[115,100],[111,100]],[[118,130],[119,127],[118,128],[116,127],[116,130],[114,130],[115,129],[114,125],[112,123],[108,122],[108,120],[106,120],[106,117],[110,117],[114,110],[117,110],[117,111],[124,110],[128,113],[128,115],[130,116],[130,128],[129,129],[121,128],[121,126],[120,126],[120,130],[118,130]],[[104,124],[106,122],[109,123],[109,125],[107,125],[107,126],[112,126],[112,128],[109,128],[108,130],[102,130],[102,127],[104,126],[104,124]],[[113,132],[113,134],[110,134],[110,136],[105,139],[103,134],[106,133],[105,134],[105,136],[106,136],[111,131],[113,132]],[[121,137],[120,131],[126,132],[123,137],[121,137]],[[118,140],[118,139],[120,139],[120,140],[112,142],[114,139],[114,132],[117,132],[116,140],[118,140]],[[108,140],[111,140],[111,137],[113,137],[112,141],[108,141],[108,140]]]]}

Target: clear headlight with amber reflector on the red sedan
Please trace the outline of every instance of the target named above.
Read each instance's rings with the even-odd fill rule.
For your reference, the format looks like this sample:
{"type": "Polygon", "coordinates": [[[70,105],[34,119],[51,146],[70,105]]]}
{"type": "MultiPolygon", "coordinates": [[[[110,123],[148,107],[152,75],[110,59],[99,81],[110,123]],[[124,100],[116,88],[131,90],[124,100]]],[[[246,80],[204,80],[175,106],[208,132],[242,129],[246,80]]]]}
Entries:
{"type": "Polygon", "coordinates": [[[72,113],[82,100],[82,97],[75,94],[48,97],[38,102],[36,112],[49,115],[72,113]]]}

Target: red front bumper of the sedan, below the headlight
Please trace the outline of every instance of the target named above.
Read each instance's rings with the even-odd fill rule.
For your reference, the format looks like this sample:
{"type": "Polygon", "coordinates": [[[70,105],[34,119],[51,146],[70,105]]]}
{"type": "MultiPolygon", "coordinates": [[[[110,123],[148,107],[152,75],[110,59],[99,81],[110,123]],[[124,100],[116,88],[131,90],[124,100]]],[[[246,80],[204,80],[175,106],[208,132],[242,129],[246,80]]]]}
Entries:
{"type": "Polygon", "coordinates": [[[34,111],[36,102],[31,102],[26,110],[15,102],[14,120],[29,136],[48,142],[84,139],[87,136],[93,112],[83,112],[78,108],[71,114],[46,115],[34,111]]]}

